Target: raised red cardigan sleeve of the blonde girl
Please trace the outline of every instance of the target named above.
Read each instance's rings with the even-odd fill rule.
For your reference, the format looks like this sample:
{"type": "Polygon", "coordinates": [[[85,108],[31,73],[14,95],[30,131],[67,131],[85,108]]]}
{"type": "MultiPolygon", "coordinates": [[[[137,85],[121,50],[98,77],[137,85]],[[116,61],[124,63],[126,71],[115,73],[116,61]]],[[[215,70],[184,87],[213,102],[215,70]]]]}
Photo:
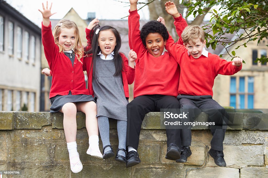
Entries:
{"type": "Polygon", "coordinates": [[[50,70],[53,70],[53,61],[56,54],[59,52],[59,47],[55,44],[54,37],[51,30],[51,22],[49,26],[44,26],[42,22],[42,43],[44,46],[44,53],[49,64],[50,70]]]}

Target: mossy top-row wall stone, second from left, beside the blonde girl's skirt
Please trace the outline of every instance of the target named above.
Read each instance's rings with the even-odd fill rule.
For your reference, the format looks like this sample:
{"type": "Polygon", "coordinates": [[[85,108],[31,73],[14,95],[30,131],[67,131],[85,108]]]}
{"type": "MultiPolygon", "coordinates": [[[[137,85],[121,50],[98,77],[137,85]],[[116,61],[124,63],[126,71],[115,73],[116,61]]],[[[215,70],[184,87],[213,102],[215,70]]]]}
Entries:
{"type": "Polygon", "coordinates": [[[42,129],[42,126],[51,125],[50,113],[47,112],[15,112],[16,129],[42,129]]]}

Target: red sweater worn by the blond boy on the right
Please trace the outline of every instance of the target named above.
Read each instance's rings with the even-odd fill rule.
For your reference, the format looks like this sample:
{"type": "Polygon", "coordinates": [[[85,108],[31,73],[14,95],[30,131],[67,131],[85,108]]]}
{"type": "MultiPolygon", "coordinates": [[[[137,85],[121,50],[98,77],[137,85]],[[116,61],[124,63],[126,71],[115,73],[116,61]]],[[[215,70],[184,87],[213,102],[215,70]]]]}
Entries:
{"type": "MultiPolygon", "coordinates": [[[[176,26],[176,30],[180,35],[182,32],[180,26],[176,26]]],[[[242,65],[234,66],[232,61],[226,61],[211,53],[208,57],[201,55],[198,59],[194,59],[188,55],[188,51],[183,45],[175,44],[171,36],[169,36],[165,48],[170,51],[181,67],[178,87],[178,93],[181,95],[213,96],[212,87],[218,74],[233,75],[242,68],[242,65]]]]}

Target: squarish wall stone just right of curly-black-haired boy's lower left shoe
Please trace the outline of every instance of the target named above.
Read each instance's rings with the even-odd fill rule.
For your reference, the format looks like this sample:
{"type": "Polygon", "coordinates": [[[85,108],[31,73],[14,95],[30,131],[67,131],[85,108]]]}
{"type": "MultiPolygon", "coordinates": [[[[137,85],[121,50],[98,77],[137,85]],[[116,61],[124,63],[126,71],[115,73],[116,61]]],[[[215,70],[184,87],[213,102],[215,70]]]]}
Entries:
{"type": "Polygon", "coordinates": [[[138,153],[142,163],[158,163],[160,157],[160,143],[140,142],[138,153]]]}

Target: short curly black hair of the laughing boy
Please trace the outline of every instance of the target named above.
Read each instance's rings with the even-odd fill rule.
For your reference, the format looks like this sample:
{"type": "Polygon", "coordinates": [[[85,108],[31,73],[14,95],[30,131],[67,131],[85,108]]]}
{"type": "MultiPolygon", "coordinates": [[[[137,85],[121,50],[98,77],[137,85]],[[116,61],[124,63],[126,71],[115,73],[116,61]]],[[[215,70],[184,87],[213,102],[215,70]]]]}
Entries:
{"type": "Polygon", "coordinates": [[[164,40],[167,40],[169,37],[168,30],[161,22],[156,20],[151,20],[143,25],[140,30],[140,38],[142,38],[142,43],[146,46],[145,38],[149,33],[159,33],[164,40]]]}

